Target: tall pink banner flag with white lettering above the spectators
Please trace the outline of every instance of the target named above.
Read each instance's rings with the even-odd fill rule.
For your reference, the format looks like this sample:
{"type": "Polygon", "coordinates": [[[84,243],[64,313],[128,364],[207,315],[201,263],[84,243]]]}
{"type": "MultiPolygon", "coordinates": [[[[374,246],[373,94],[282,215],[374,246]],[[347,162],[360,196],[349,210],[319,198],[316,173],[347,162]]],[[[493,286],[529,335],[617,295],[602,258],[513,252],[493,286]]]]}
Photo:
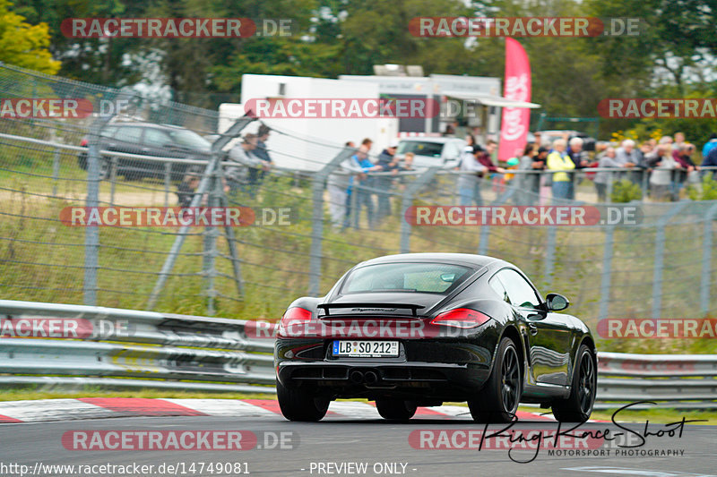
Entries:
{"type": "MultiPolygon", "coordinates": [[[[505,89],[503,96],[517,101],[531,100],[531,64],[525,50],[513,38],[505,38],[505,89]]],[[[498,159],[520,158],[528,138],[531,110],[504,107],[500,126],[498,159]]]]}

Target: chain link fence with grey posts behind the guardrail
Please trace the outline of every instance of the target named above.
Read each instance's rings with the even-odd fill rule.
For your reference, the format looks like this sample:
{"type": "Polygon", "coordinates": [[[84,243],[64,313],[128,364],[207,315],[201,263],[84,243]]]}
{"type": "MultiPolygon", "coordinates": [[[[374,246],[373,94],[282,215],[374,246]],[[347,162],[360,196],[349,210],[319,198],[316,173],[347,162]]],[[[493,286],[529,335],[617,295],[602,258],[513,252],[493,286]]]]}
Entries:
{"type": "MultiPolygon", "coordinates": [[[[632,223],[417,225],[408,217],[418,207],[591,205],[596,170],[574,173],[575,200],[555,200],[526,185],[527,172],[509,171],[512,179],[475,181],[480,201],[466,202],[453,169],[358,175],[347,162],[356,149],[341,145],[359,139],[350,131],[328,144],[273,129],[269,156],[316,165],[307,172],[236,162],[239,138],[256,133],[259,121],[241,118],[218,132],[217,112],[132,89],[0,65],[0,98],[15,106],[22,98],[84,105],[79,117],[0,115],[4,298],[277,319],[294,298],[326,293],[360,260],[457,251],[512,261],[543,292],[566,294],[593,327],[600,318],[699,318],[717,309],[713,201],[635,201],[627,204],[637,210],[632,223]],[[277,149],[272,137],[280,134],[277,149]],[[310,151],[300,158],[291,146],[299,143],[310,151]],[[255,218],[237,227],[82,227],[61,219],[68,207],[180,203],[250,208],[255,218]]],[[[609,174],[631,175],[643,197],[650,192],[644,171],[609,174]]]]}

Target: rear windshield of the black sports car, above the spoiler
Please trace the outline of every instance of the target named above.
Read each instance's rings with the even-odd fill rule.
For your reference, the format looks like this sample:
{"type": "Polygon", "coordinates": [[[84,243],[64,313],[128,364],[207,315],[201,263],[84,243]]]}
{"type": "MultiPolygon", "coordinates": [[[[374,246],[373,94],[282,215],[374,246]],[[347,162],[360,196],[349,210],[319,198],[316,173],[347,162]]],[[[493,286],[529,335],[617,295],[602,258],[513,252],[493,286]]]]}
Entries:
{"type": "Polygon", "coordinates": [[[445,263],[382,263],[352,271],[341,294],[417,292],[448,294],[471,275],[471,268],[445,263]]]}

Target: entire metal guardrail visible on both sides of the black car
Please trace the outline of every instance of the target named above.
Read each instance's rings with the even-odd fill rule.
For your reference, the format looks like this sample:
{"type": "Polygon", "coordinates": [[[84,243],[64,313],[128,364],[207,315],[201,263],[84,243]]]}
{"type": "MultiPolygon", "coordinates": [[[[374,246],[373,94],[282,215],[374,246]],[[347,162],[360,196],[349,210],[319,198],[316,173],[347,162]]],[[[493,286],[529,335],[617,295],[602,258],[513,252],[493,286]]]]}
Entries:
{"type": "MultiPolygon", "coordinates": [[[[257,328],[241,319],[0,300],[0,336],[35,335],[0,337],[0,384],[273,393],[273,341],[252,337],[257,328]]],[[[717,408],[717,354],[598,355],[596,409],[635,401],[717,408]]]]}

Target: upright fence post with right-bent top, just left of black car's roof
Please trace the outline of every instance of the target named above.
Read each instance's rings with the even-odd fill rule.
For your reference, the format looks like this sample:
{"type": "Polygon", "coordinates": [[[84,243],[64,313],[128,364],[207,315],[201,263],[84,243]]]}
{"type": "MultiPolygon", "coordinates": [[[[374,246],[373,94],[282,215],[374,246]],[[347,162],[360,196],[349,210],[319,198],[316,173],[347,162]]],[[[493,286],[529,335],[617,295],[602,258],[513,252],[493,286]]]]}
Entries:
{"type": "MultiPolygon", "coordinates": [[[[321,282],[321,260],[323,258],[324,241],[324,183],[326,179],[343,161],[350,158],[356,149],[344,148],[341,152],[322,167],[311,181],[312,206],[311,216],[311,249],[309,251],[308,292],[309,296],[318,296],[321,282]]],[[[355,188],[354,188],[355,189],[355,188]]],[[[355,191],[354,191],[355,192],[355,191]]]]}

